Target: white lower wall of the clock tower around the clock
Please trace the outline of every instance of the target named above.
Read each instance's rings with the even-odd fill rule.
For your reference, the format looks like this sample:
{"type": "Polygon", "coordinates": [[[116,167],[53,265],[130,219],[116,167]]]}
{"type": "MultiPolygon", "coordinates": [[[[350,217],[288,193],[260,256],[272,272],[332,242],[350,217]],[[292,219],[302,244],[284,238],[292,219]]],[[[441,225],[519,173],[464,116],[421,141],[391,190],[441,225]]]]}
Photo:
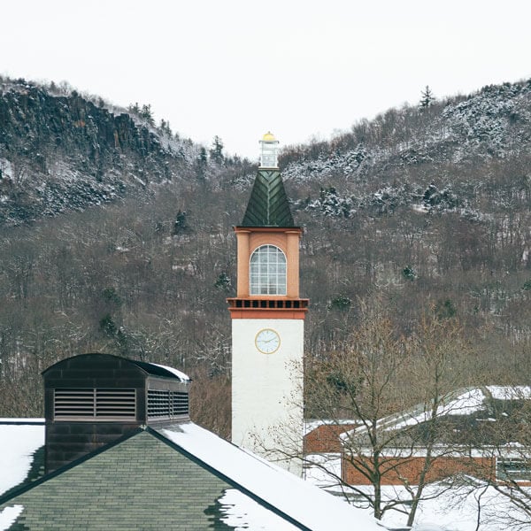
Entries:
{"type": "Polygon", "coordinates": [[[232,441],[300,475],[304,319],[232,319],[232,337],[232,441]],[[267,328],[281,338],[272,354],[255,343],[267,328]]]}

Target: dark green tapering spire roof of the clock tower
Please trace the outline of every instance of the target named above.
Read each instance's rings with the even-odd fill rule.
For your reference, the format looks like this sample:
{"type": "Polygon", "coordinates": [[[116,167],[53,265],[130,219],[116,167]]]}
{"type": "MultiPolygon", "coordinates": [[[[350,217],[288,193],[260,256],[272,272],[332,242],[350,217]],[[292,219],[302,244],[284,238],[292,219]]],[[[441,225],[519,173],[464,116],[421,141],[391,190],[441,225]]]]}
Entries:
{"type": "Polygon", "coordinates": [[[295,227],[278,169],[258,169],[242,227],[295,227]]]}

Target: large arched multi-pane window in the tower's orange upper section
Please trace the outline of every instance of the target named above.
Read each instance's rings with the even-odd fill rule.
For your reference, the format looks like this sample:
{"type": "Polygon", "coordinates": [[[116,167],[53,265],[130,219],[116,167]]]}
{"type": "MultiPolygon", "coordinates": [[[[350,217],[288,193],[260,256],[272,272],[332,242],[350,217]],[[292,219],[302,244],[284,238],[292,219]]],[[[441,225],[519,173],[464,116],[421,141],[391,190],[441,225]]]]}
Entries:
{"type": "Polygon", "coordinates": [[[250,295],[286,295],[286,256],[262,245],[250,256],[250,295]]]}

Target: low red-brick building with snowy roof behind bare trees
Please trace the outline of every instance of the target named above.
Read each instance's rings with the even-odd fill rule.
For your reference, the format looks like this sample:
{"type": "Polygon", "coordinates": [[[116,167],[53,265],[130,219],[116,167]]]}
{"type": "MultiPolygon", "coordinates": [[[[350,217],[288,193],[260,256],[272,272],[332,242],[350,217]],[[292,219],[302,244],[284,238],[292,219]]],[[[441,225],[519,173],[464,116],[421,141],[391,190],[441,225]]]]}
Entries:
{"type": "MultiPolygon", "coordinates": [[[[529,407],[530,388],[486,386],[450,393],[438,408],[435,422],[431,408],[424,404],[381,419],[377,429],[394,442],[379,453],[380,467],[385,471],[381,484],[418,484],[429,451],[432,462],[426,474],[428,482],[466,474],[531,485],[526,422],[529,407]],[[435,438],[428,435],[434,430],[435,438]]],[[[370,484],[366,471],[372,467],[373,449],[366,427],[343,432],[340,439],[342,481],[370,484]]]]}

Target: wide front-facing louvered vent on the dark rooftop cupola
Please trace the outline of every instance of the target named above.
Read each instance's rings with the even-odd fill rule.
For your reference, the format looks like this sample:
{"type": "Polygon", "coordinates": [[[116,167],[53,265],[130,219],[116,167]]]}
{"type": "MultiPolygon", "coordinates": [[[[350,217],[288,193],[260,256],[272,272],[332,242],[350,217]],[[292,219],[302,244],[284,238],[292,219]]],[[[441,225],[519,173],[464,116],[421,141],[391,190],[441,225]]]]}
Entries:
{"type": "Polygon", "coordinates": [[[135,389],[55,389],[58,420],[134,420],[135,389]]]}

